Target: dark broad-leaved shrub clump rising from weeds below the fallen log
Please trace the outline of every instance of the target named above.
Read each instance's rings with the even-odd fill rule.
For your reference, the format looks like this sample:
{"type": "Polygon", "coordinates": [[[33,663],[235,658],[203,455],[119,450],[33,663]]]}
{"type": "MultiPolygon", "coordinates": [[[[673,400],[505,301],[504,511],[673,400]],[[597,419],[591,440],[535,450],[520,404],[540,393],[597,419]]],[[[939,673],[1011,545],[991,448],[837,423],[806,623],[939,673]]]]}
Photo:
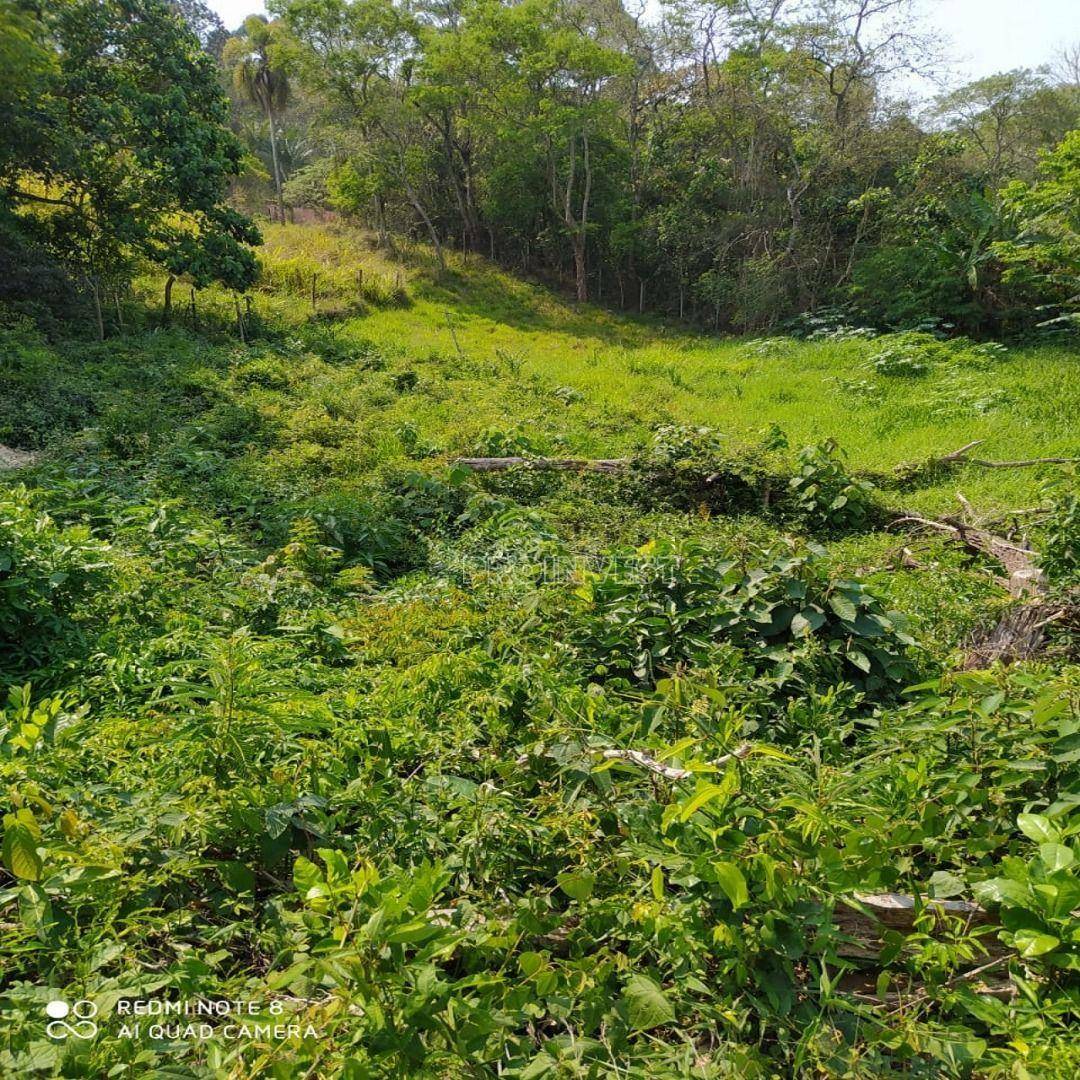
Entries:
{"type": "Polygon", "coordinates": [[[707,667],[729,645],[777,686],[880,690],[914,670],[902,616],[860,582],[832,579],[811,551],[744,558],[658,541],[616,553],[575,595],[573,639],[605,677],[654,683],[707,667]]]}

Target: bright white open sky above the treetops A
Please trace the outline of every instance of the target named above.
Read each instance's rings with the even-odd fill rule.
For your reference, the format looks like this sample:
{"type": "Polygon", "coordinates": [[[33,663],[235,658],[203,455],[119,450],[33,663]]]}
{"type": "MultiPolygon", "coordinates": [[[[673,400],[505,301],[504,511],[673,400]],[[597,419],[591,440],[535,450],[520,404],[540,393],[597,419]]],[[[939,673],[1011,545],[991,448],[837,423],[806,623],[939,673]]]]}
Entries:
{"type": "MultiPolygon", "coordinates": [[[[260,0],[207,0],[235,29],[260,0]]],[[[926,25],[941,35],[960,81],[1038,67],[1065,44],[1080,42],[1080,0],[918,0],[926,25]]]]}

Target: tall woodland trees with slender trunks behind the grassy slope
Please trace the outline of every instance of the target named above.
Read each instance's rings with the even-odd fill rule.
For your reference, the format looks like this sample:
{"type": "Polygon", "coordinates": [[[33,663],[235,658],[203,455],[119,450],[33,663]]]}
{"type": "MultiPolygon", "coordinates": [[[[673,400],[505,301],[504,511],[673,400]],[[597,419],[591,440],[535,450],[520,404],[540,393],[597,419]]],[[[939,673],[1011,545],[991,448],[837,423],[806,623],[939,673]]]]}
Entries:
{"type": "Polygon", "coordinates": [[[1013,325],[999,192],[1080,118],[1026,70],[905,103],[940,66],[909,0],[272,6],[340,210],[717,327],[1013,325]]]}

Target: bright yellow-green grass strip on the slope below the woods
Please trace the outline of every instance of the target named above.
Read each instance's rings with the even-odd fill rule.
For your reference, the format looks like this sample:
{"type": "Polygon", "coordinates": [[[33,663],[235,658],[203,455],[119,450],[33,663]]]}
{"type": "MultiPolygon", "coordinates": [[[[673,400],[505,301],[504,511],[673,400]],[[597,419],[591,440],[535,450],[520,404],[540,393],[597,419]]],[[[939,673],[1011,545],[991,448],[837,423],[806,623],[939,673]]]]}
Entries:
{"type": "MultiPolygon", "coordinates": [[[[875,471],[973,440],[984,441],[981,456],[997,460],[1080,455],[1075,349],[1024,347],[983,370],[889,378],[867,368],[874,342],[774,339],[760,346],[703,336],[575,307],[475,256],[468,264],[451,256],[440,281],[422,248],[395,261],[347,229],[268,226],[266,232],[265,265],[302,271],[292,292],[279,286],[260,295],[257,310],[308,319],[318,268],[324,283],[343,283],[320,300],[324,313],[340,314],[340,337],[372,342],[423,379],[429,392],[391,408],[379,426],[377,456],[392,453],[386,429],[406,417],[447,453],[467,451],[478,431],[495,427],[528,431],[544,451],[613,457],[656,424],[679,422],[707,424],[738,442],[752,442],[775,423],[793,446],[832,437],[852,468],[875,471]],[[361,301],[363,312],[350,313],[359,267],[368,281],[407,282],[408,301],[361,301]],[[852,382],[863,392],[846,386],[852,382]]],[[[282,275],[270,278],[287,285],[282,275]]],[[[346,373],[330,392],[355,381],[363,376],[346,373]]],[[[980,509],[1016,508],[1030,504],[1032,480],[1023,471],[971,468],[909,501],[951,511],[959,487],[980,509]]]]}

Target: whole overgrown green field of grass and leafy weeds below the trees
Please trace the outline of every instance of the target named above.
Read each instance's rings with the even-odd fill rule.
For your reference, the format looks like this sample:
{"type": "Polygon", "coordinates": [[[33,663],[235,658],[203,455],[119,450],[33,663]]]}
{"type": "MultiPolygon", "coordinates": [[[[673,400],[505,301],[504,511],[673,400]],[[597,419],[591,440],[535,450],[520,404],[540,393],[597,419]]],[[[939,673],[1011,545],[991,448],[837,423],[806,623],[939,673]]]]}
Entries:
{"type": "Polygon", "coordinates": [[[1044,508],[994,527],[1067,608],[1067,468],[894,467],[1077,456],[1076,350],[702,337],[266,232],[243,343],[159,280],[104,342],[0,327],[0,1070],[1076,1076],[1075,642],[962,670],[1001,567],[886,527],[1044,508]],[[916,919],[853,956],[881,892],[916,919]],[[295,1030],[121,1028],[165,998],[295,1030]]]}

